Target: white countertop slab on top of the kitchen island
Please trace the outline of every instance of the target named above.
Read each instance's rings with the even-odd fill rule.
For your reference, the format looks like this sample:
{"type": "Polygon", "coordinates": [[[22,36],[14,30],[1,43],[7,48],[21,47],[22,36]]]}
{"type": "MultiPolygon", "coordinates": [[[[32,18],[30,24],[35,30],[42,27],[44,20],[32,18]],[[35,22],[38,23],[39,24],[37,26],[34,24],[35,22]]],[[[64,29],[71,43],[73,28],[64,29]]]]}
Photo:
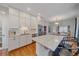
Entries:
{"type": "Polygon", "coordinates": [[[63,40],[63,36],[44,35],[44,36],[35,37],[33,38],[33,40],[49,48],[50,50],[55,51],[55,49],[58,47],[60,42],[63,40]]]}

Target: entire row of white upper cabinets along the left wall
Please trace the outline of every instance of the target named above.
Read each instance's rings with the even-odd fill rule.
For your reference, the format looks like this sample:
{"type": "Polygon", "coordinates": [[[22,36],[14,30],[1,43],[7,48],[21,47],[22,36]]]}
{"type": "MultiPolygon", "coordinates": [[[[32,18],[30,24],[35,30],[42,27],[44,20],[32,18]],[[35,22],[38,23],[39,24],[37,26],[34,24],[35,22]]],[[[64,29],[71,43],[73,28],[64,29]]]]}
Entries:
{"type": "Polygon", "coordinates": [[[31,14],[19,11],[17,9],[9,8],[9,28],[19,28],[22,29],[23,32],[27,28],[28,30],[30,30],[31,34],[34,34],[37,33],[37,20],[37,17],[31,14]]]}

